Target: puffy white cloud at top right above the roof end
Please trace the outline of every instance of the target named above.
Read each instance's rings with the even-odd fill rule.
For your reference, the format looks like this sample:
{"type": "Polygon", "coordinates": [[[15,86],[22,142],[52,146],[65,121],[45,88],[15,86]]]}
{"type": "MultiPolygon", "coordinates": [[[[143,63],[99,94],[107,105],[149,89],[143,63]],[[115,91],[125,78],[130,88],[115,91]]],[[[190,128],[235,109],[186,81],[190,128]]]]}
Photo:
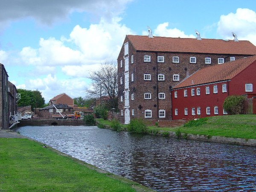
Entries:
{"type": "Polygon", "coordinates": [[[234,32],[238,39],[248,40],[256,45],[256,12],[239,8],[236,13],[221,15],[217,32],[224,39],[233,39],[234,32]]]}

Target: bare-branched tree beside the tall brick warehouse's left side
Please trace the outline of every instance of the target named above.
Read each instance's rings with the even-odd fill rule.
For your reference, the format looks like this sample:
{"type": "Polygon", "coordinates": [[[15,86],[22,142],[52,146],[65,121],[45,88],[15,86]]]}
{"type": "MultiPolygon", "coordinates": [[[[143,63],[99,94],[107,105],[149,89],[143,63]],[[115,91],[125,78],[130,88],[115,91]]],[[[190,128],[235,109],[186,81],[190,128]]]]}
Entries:
{"type": "Polygon", "coordinates": [[[90,74],[92,80],[91,89],[86,92],[94,97],[109,97],[109,108],[117,108],[117,64],[116,62],[105,62],[97,71],[90,74]]]}

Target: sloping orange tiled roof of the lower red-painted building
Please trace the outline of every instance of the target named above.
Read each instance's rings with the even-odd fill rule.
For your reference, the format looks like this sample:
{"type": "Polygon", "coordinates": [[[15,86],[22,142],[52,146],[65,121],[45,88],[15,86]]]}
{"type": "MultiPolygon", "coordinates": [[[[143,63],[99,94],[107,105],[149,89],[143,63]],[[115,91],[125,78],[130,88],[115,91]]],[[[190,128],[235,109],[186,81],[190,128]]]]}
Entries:
{"type": "Polygon", "coordinates": [[[253,62],[256,62],[256,55],[241,58],[236,61],[230,61],[224,64],[204,67],[193,73],[187,79],[184,79],[182,82],[173,87],[173,89],[230,80],[253,62]]]}

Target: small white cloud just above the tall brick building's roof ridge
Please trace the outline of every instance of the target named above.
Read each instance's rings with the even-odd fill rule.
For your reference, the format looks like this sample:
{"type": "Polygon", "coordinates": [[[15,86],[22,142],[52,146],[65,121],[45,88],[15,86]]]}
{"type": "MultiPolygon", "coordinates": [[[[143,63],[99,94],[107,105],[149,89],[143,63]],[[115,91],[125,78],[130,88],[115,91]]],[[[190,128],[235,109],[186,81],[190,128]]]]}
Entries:
{"type": "MultiPolygon", "coordinates": [[[[161,23],[157,26],[157,29],[153,30],[153,35],[156,36],[162,36],[162,37],[180,37],[180,38],[195,38],[194,35],[186,35],[183,31],[180,31],[180,29],[174,28],[174,29],[167,29],[169,26],[168,22],[161,23]]],[[[143,35],[148,35],[148,32],[143,32],[143,35]]]]}

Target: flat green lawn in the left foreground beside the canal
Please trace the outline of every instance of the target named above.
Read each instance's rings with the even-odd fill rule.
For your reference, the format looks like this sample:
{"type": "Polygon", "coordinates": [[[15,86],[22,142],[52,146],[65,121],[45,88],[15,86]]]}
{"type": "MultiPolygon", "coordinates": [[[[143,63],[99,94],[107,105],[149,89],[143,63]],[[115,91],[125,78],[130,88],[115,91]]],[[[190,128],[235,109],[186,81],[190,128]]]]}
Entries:
{"type": "Polygon", "coordinates": [[[0,138],[0,170],[0,191],[148,190],[28,139],[0,138]]]}

